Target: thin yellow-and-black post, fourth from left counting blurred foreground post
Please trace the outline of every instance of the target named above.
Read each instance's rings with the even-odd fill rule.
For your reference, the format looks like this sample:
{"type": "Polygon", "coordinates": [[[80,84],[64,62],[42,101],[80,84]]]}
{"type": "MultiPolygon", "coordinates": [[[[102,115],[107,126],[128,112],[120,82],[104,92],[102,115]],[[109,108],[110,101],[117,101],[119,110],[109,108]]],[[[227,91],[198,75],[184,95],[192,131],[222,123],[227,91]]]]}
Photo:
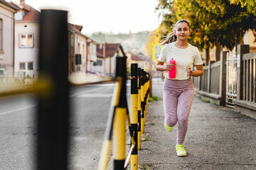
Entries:
{"type": "Polygon", "coordinates": [[[141,68],[138,69],[138,150],[141,149],[141,143],[142,143],[142,102],[141,102],[141,68]]]}

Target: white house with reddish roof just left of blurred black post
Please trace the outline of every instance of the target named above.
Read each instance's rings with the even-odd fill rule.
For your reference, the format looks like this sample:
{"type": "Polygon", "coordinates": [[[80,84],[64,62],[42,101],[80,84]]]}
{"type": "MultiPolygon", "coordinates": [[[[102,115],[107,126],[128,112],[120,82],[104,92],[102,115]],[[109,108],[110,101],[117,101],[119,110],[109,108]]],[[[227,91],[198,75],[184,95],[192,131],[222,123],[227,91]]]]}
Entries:
{"type": "Polygon", "coordinates": [[[15,4],[15,61],[14,72],[18,75],[38,75],[40,12],[25,3],[15,4]]]}

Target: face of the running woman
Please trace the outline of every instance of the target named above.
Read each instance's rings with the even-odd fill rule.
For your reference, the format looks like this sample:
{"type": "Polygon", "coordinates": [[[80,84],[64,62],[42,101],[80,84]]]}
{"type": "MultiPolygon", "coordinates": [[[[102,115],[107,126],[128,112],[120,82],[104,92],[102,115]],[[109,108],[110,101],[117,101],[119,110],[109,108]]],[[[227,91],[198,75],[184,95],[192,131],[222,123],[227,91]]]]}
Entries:
{"type": "Polygon", "coordinates": [[[177,35],[178,40],[188,40],[188,35],[190,35],[191,30],[188,27],[188,23],[178,23],[174,30],[175,35],[177,35]]]}

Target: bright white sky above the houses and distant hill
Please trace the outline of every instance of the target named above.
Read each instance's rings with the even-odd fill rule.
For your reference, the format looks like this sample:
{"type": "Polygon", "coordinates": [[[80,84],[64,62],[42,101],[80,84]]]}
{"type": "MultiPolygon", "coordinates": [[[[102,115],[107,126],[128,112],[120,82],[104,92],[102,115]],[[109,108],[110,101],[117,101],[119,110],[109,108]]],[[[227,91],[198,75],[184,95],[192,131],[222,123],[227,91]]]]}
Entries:
{"type": "MultiPolygon", "coordinates": [[[[7,0],[9,1],[9,0],[7,0]]],[[[19,4],[20,0],[12,0],[19,4]]],[[[161,23],[158,0],[25,0],[41,9],[68,11],[68,22],[83,26],[82,33],[137,33],[155,30],[161,23]]]]}

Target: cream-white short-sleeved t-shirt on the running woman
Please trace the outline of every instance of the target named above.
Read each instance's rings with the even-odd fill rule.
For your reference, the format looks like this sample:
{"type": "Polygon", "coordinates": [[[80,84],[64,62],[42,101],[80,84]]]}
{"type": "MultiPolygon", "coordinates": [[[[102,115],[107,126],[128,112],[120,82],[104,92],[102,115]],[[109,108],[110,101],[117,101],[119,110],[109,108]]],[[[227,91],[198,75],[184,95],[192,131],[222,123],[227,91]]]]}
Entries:
{"type": "MultiPolygon", "coordinates": [[[[160,52],[158,61],[159,62],[169,62],[171,58],[176,60],[176,78],[178,80],[189,79],[188,68],[192,68],[192,64],[201,65],[203,64],[201,60],[200,52],[198,48],[189,44],[185,49],[178,48],[174,45],[175,42],[164,45],[160,52]]],[[[169,79],[169,72],[164,71],[164,75],[169,79]]]]}

